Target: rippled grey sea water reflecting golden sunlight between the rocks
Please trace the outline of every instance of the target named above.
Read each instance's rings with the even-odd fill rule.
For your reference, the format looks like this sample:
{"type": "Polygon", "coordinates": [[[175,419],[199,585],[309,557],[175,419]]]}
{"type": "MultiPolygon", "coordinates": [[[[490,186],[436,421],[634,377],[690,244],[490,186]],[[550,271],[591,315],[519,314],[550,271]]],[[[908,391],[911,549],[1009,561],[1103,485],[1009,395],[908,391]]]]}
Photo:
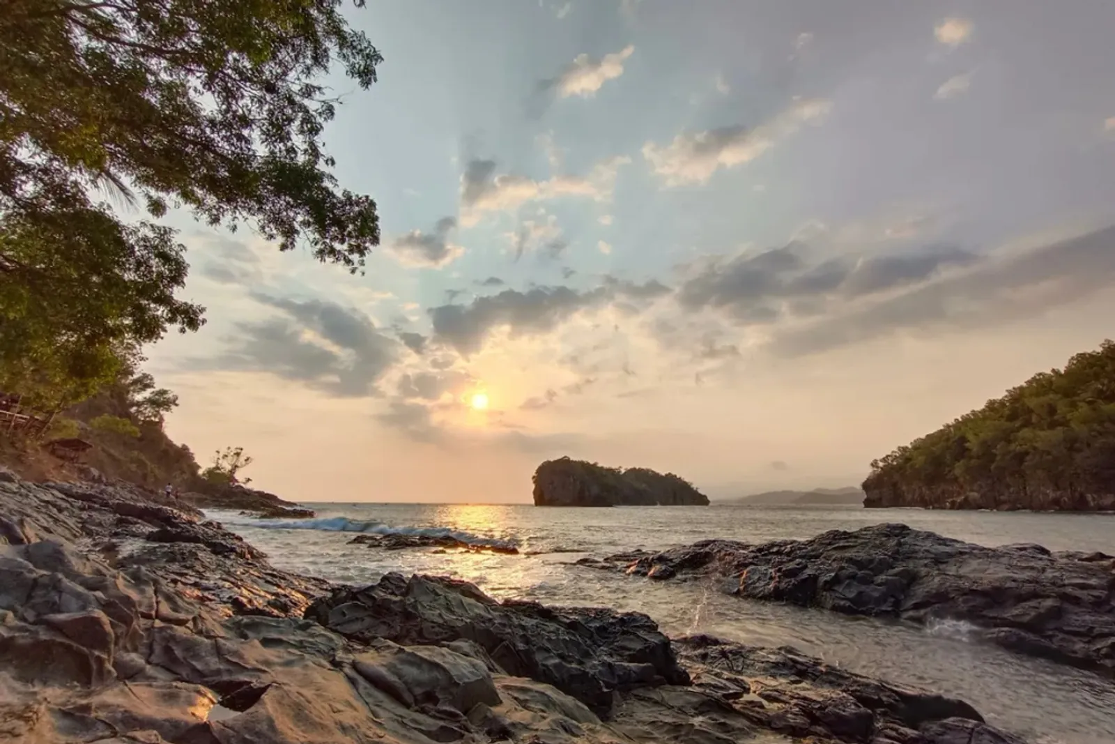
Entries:
{"type": "Polygon", "coordinates": [[[855,506],[539,509],[531,505],[312,504],[312,520],[210,516],[264,550],[279,568],[345,583],[388,571],[452,576],[500,598],[639,610],[669,635],[708,632],[791,645],[826,661],[952,695],[1034,744],[1115,742],[1115,682],[977,642],[963,624],[922,628],[736,599],[710,584],[651,582],[575,566],[583,555],[697,540],[804,539],[825,530],[902,522],[970,542],[1036,542],[1115,553],[1115,515],[864,510],[855,506]],[[511,543],[521,554],[396,550],[349,544],[358,533],[452,534],[511,543]]]}

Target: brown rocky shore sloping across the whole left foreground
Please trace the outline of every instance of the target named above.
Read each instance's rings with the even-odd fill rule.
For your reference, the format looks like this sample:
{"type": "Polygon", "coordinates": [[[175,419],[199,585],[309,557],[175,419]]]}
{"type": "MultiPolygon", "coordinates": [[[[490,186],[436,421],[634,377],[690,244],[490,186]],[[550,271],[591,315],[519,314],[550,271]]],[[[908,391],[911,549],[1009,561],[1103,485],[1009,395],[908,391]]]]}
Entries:
{"type": "Polygon", "coordinates": [[[272,568],[188,508],[0,472],[0,737],[1019,744],[971,706],[638,613],[272,568]]]}

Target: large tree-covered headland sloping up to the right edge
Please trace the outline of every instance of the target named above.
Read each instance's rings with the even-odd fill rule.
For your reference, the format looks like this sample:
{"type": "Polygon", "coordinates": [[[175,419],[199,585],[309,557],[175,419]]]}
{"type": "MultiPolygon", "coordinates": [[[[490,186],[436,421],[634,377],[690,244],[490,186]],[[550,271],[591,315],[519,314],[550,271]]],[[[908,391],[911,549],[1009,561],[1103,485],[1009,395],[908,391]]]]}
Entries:
{"type": "Polygon", "coordinates": [[[864,506],[1115,511],[1115,342],[871,463],[864,506]]]}

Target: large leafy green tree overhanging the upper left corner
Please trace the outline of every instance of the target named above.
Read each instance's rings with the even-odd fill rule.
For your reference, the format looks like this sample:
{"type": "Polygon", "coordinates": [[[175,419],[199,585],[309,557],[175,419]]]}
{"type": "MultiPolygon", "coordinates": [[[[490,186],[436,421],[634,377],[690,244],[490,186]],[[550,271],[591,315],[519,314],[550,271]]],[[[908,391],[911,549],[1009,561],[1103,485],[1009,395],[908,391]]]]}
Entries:
{"type": "Polygon", "coordinates": [[[200,327],[174,297],[175,233],[97,192],[362,269],[376,204],[338,187],[321,143],[334,60],[360,88],[381,61],[340,0],[7,0],[0,384],[66,405],[114,377],[122,346],[200,327]]]}

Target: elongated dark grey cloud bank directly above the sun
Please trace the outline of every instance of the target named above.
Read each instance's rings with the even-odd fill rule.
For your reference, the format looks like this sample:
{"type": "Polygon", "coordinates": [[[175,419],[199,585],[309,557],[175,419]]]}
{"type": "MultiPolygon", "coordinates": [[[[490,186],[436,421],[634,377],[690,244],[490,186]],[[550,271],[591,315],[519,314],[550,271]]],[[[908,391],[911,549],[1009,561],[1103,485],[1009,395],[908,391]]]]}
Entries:
{"type": "Polygon", "coordinates": [[[669,292],[657,281],[638,284],[608,278],[603,286],[584,292],[569,287],[535,287],[525,292],[505,289],[468,305],[443,305],[428,312],[434,337],[467,356],[479,351],[496,328],[506,328],[513,336],[549,332],[581,310],[620,300],[651,301],[669,292]]]}

